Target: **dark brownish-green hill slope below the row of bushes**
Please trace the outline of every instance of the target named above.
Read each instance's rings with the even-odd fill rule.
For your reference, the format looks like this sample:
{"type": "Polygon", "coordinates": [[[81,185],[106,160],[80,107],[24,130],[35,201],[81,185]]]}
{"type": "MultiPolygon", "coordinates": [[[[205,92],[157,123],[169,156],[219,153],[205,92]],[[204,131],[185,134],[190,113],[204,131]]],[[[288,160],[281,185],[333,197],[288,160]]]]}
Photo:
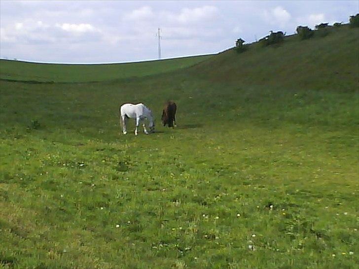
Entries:
{"type": "Polygon", "coordinates": [[[280,45],[249,46],[244,53],[233,49],[191,68],[193,73],[218,82],[289,88],[358,90],[359,29],[327,29],[321,36],[299,40],[288,36],[280,45]]]}

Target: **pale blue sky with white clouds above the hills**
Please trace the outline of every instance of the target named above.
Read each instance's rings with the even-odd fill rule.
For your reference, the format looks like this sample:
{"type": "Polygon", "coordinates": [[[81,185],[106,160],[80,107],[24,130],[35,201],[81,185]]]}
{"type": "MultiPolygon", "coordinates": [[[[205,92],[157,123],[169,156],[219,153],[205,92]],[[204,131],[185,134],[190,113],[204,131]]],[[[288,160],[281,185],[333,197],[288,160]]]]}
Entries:
{"type": "Polygon", "coordinates": [[[242,37],[349,21],[358,0],[0,0],[0,57],[62,63],[139,61],[216,53],[242,37]]]}

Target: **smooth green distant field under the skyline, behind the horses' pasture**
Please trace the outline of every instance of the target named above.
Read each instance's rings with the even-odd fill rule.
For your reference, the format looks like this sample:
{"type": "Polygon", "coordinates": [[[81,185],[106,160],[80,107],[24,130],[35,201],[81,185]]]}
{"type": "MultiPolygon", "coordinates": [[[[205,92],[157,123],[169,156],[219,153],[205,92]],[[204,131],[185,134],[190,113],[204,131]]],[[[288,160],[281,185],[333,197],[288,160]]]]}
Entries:
{"type": "Polygon", "coordinates": [[[126,64],[59,65],[0,60],[1,79],[86,82],[142,77],[195,65],[212,55],[126,64]]]}

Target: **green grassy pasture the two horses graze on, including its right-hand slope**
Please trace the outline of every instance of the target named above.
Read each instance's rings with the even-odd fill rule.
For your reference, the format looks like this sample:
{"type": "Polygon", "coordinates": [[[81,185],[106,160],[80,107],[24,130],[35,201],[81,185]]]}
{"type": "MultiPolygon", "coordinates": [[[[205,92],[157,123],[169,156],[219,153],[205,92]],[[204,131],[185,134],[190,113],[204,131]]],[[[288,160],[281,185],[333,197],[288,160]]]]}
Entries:
{"type": "Polygon", "coordinates": [[[16,63],[33,82],[0,81],[0,268],[358,268],[358,29],[286,41],[101,82],[16,63]],[[120,134],[138,101],[156,133],[120,134]]]}

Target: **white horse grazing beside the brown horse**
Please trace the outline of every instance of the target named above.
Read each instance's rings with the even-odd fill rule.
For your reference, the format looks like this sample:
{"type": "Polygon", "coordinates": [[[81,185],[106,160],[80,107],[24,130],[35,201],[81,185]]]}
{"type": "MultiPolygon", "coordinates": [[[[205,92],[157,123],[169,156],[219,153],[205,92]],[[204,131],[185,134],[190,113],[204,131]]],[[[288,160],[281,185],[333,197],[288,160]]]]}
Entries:
{"type": "MultiPolygon", "coordinates": [[[[145,119],[149,121],[148,127],[150,133],[154,132],[154,120],[153,120],[152,111],[143,103],[137,103],[137,104],[125,103],[121,105],[120,113],[121,113],[121,124],[122,124],[123,134],[127,134],[126,131],[127,118],[136,119],[135,135],[138,134],[140,122],[144,121],[145,119]]],[[[143,127],[144,127],[144,133],[149,134],[146,130],[145,124],[143,124],[143,127]]]]}

